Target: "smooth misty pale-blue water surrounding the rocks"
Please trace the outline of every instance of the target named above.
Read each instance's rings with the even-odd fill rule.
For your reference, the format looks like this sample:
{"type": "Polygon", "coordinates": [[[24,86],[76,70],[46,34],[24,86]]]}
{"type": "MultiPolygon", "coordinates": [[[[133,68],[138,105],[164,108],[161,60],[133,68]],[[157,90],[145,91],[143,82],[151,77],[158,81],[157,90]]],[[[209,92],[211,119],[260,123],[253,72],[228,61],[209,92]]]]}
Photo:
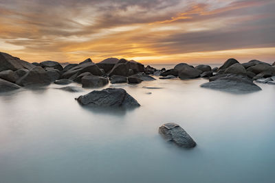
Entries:
{"type": "Polygon", "coordinates": [[[141,104],[128,111],[83,108],[74,98],[92,89],[56,84],[1,94],[0,182],[274,182],[275,86],[233,95],[204,82],[109,84],[141,104]],[[168,122],[197,147],[164,141],[168,122]]]}

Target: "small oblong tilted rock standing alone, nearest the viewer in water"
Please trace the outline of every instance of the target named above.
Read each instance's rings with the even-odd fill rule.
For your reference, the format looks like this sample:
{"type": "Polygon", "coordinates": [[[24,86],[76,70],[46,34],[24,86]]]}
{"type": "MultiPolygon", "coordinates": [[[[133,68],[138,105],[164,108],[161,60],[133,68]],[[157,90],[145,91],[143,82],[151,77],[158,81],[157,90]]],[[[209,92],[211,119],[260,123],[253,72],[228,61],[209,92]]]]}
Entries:
{"type": "Polygon", "coordinates": [[[166,123],[159,127],[159,134],[167,141],[171,141],[179,147],[192,148],[197,144],[186,131],[176,123],[166,123]]]}

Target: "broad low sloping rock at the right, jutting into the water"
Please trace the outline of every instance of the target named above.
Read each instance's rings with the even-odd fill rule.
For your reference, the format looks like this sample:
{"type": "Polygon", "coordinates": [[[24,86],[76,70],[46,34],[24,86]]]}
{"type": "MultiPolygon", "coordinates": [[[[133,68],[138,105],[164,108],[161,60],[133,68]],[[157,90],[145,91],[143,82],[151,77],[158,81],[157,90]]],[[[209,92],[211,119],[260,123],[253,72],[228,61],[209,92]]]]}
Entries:
{"type": "Polygon", "coordinates": [[[261,90],[248,77],[243,75],[217,75],[210,77],[210,82],[201,84],[203,88],[221,90],[228,93],[252,93],[261,90]]]}

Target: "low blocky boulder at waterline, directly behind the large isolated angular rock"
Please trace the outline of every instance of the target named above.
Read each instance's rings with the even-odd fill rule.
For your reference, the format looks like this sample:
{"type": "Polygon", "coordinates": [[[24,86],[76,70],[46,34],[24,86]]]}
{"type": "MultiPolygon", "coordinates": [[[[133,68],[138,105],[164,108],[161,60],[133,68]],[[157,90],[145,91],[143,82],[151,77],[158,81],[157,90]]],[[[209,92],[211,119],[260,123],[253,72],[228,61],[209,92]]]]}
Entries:
{"type": "Polygon", "coordinates": [[[98,75],[85,75],[82,77],[81,83],[83,88],[97,88],[105,86],[109,83],[109,80],[98,75]]]}

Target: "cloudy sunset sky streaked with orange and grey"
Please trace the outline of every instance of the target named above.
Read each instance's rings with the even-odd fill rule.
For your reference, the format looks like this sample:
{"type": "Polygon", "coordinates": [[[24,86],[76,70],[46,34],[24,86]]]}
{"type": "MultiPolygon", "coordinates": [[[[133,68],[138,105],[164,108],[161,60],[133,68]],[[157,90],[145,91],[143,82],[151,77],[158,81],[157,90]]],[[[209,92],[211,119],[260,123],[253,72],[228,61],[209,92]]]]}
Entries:
{"type": "Polygon", "coordinates": [[[29,62],[274,62],[275,1],[0,0],[0,51],[29,62]]]}

